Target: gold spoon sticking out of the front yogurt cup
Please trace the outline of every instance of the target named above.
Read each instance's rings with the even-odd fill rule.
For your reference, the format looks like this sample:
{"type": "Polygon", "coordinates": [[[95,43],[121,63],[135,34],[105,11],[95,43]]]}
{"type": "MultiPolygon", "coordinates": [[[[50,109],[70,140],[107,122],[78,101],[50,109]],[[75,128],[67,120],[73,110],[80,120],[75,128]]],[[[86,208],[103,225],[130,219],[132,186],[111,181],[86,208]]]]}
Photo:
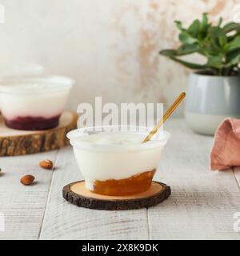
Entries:
{"type": "Polygon", "coordinates": [[[146,138],[144,138],[142,143],[150,141],[150,139],[154,136],[154,134],[158,131],[158,129],[163,125],[163,123],[166,121],[166,119],[170,117],[170,114],[172,114],[174,112],[174,110],[176,109],[176,107],[182,102],[182,100],[183,100],[183,98],[185,98],[185,96],[186,96],[186,93],[182,92],[182,94],[180,94],[178,96],[178,98],[175,99],[172,106],[170,106],[170,108],[166,111],[166,114],[164,114],[164,116],[161,118],[161,120],[156,124],[156,126],[154,126],[154,128],[150,131],[150,133],[146,136],[146,138]]]}

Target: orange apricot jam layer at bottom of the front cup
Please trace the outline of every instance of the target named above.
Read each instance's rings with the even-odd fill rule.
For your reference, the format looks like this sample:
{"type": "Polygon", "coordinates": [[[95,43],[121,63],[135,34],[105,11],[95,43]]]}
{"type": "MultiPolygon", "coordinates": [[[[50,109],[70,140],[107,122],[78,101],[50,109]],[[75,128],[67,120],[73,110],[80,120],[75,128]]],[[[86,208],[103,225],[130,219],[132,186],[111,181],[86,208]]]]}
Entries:
{"type": "Polygon", "coordinates": [[[130,178],[108,179],[94,182],[94,193],[114,196],[125,196],[142,193],[150,189],[156,170],[135,174],[130,178]]]}

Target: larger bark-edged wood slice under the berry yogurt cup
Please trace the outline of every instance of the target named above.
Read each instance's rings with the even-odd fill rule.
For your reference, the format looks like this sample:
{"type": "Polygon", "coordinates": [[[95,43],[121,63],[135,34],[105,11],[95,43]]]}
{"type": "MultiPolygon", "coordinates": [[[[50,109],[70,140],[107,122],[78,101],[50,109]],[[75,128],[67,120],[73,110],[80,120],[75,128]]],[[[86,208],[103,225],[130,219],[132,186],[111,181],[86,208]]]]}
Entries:
{"type": "Polygon", "coordinates": [[[62,113],[58,127],[50,130],[14,130],[5,126],[0,116],[0,156],[34,154],[69,145],[66,134],[77,127],[78,115],[62,113]]]}

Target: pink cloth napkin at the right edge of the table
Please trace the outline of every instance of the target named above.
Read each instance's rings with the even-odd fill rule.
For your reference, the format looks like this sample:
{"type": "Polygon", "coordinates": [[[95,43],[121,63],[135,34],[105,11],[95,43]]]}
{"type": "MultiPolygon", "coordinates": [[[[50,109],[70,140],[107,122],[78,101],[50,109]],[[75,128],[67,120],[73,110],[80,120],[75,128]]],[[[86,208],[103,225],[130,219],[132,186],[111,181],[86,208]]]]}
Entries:
{"type": "Polygon", "coordinates": [[[226,118],[218,126],[210,154],[211,170],[240,166],[240,120],[226,118]]]}

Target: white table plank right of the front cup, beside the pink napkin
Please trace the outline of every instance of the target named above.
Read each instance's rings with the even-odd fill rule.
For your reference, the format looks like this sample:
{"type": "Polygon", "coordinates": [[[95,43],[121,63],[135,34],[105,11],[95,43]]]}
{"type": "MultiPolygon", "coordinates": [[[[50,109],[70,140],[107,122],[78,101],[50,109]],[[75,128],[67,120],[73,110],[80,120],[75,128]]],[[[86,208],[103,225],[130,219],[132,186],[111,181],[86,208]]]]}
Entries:
{"type": "Polygon", "coordinates": [[[240,190],[232,170],[210,171],[213,138],[178,120],[166,129],[172,136],[156,179],[170,185],[172,195],[148,210],[151,238],[239,239],[233,214],[240,211],[240,190]]]}

